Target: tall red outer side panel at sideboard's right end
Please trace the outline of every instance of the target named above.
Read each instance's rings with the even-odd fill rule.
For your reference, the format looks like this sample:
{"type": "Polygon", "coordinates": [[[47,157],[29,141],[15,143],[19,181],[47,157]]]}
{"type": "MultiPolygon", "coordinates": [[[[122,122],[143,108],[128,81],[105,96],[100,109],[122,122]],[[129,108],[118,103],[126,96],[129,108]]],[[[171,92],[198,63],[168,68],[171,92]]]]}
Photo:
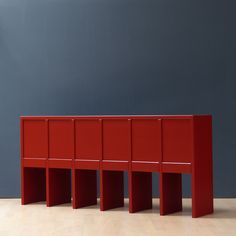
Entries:
{"type": "Polygon", "coordinates": [[[193,217],[213,212],[212,118],[194,117],[193,217]]]}

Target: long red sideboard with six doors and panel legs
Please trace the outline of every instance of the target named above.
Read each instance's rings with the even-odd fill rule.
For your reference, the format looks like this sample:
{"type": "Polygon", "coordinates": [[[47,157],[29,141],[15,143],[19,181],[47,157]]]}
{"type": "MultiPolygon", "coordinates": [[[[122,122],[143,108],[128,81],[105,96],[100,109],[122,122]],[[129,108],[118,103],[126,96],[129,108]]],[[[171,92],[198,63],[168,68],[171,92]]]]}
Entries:
{"type": "Polygon", "coordinates": [[[191,174],[192,216],[213,212],[211,115],[22,116],[22,204],[152,207],[152,172],[160,173],[160,214],[182,210],[181,174],[191,174]]]}

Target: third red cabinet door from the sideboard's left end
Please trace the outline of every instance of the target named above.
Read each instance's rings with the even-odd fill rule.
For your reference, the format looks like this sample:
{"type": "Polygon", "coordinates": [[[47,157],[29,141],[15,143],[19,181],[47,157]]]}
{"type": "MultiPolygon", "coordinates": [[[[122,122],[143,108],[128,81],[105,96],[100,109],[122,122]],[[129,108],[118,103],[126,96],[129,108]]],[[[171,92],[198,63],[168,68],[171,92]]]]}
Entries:
{"type": "Polygon", "coordinates": [[[101,153],[101,132],[98,120],[77,120],[75,122],[76,159],[99,160],[101,153]]]}

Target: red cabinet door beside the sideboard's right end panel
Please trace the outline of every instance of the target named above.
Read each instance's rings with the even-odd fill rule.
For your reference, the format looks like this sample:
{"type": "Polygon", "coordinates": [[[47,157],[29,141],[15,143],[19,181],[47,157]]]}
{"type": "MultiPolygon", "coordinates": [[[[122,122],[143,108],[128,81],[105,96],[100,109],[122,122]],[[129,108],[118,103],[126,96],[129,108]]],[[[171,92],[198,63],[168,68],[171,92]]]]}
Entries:
{"type": "Polygon", "coordinates": [[[193,157],[192,119],[162,121],[163,162],[191,163],[193,157]]]}

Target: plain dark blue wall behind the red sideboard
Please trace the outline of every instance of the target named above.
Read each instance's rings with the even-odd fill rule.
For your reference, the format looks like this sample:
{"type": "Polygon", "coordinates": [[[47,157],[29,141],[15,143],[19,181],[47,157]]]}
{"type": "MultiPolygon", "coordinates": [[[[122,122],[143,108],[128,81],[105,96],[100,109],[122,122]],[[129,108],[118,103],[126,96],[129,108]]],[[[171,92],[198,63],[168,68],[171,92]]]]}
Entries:
{"type": "Polygon", "coordinates": [[[0,197],[19,196],[20,115],[192,113],[213,114],[215,196],[236,197],[235,9],[1,0],[0,197]]]}

